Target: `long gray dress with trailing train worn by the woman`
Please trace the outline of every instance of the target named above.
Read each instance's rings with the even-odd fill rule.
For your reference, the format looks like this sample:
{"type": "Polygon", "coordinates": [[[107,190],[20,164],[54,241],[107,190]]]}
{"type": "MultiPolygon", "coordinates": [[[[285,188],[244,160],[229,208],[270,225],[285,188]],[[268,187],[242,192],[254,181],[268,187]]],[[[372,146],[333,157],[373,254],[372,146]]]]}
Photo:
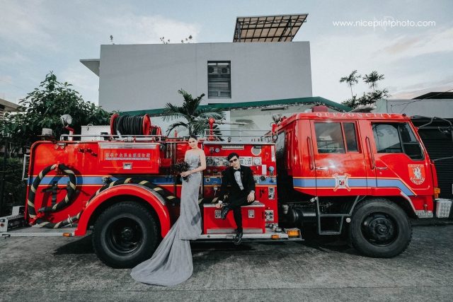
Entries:
{"type": "MultiPolygon", "coordinates": [[[[185,153],[185,161],[190,165],[190,170],[200,166],[200,156],[197,154],[185,153]]],[[[201,234],[201,213],[198,207],[200,182],[200,172],[190,174],[188,181],[183,180],[180,216],[154,255],[132,269],[131,276],[134,280],[169,286],[180,284],[192,276],[189,240],[195,240],[201,234]]]]}

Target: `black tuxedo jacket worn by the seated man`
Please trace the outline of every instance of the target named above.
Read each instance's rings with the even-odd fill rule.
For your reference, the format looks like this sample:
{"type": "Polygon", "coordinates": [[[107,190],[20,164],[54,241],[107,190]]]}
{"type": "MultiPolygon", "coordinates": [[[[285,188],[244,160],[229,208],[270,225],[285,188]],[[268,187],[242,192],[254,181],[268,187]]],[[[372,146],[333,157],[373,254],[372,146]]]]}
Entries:
{"type": "Polygon", "coordinates": [[[234,168],[229,167],[223,170],[222,172],[222,186],[220,187],[219,199],[224,200],[224,195],[228,193],[229,189],[229,199],[237,199],[241,197],[246,197],[251,191],[255,191],[255,180],[253,179],[253,172],[251,168],[248,168],[245,165],[241,165],[241,181],[243,185],[243,190],[239,187],[234,178],[234,168]]]}

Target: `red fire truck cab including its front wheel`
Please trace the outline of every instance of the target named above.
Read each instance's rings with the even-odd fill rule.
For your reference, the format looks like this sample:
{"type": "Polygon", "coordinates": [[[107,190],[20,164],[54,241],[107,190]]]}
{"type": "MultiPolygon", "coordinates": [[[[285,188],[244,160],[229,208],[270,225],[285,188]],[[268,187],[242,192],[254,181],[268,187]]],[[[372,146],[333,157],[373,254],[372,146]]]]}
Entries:
{"type": "Polygon", "coordinates": [[[433,217],[435,166],[405,115],[300,113],[280,121],[276,145],[286,223],[345,231],[363,254],[393,257],[411,240],[408,217],[433,217]]]}

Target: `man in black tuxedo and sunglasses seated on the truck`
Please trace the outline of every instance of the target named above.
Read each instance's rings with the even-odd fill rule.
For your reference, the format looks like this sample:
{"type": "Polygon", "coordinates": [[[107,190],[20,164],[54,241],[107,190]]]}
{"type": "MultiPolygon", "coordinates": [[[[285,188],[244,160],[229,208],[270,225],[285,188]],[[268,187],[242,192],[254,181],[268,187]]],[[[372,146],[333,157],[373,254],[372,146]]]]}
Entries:
{"type": "Polygon", "coordinates": [[[255,180],[253,180],[251,168],[241,165],[237,153],[230,153],[227,158],[230,166],[222,172],[222,187],[220,187],[219,203],[216,207],[222,208],[220,214],[222,219],[225,219],[226,214],[230,210],[233,210],[234,221],[236,221],[237,226],[234,244],[239,245],[243,235],[241,206],[245,206],[255,200],[255,180]],[[229,204],[222,207],[222,199],[226,195],[228,185],[230,186],[228,196],[229,204]]]}

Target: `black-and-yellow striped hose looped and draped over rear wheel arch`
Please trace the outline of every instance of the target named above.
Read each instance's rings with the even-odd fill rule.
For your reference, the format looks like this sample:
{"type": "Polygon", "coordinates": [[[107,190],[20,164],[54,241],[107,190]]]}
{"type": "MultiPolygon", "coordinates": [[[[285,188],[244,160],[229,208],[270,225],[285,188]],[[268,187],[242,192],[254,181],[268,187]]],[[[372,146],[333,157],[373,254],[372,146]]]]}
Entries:
{"type": "Polygon", "coordinates": [[[45,228],[62,228],[64,226],[72,225],[75,221],[78,221],[80,219],[80,216],[84,209],[88,206],[88,204],[93,200],[94,197],[96,197],[98,194],[103,192],[103,190],[108,189],[109,187],[114,187],[115,185],[142,185],[144,187],[147,187],[149,190],[152,190],[156,194],[159,194],[161,197],[164,198],[166,202],[173,202],[177,203],[180,202],[180,199],[172,194],[170,194],[168,191],[162,189],[161,187],[154,185],[154,183],[149,182],[148,180],[140,180],[137,178],[125,178],[121,180],[115,180],[113,182],[108,182],[102,187],[100,187],[93,196],[88,199],[88,202],[86,202],[85,207],[79,211],[74,216],[70,216],[67,219],[64,219],[59,222],[50,222],[47,221],[43,218],[43,213],[46,212],[53,212],[53,211],[59,211],[61,209],[66,208],[73,202],[74,200],[71,200],[72,197],[74,196],[74,193],[76,191],[76,177],[74,175],[74,172],[70,170],[66,165],[63,165],[60,163],[59,165],[49,165],[46,168],[44,168],[38,175],[35,180],[33,180],[33,184],[30,187],[30,192],[28,193],[28,215],[32,219],[30,224],[38,224],[39,226],[45,227],[45,228]],[[35,195],[36,191],[38,190],[38,185],[40,185],[40,182],[44,176],[49,173],[51,170],[55,170],[56,168],[59,168],[64,174],[69,176],[69,186],[68,186],[68,192],[66,197],[62,200],[62,202],[57,202],[54,206],[52,207],[42,207],[38,210],[38,214],[35,211],[35,195]],[[61,205],[60,205],[61,204],[61,205]]]}

